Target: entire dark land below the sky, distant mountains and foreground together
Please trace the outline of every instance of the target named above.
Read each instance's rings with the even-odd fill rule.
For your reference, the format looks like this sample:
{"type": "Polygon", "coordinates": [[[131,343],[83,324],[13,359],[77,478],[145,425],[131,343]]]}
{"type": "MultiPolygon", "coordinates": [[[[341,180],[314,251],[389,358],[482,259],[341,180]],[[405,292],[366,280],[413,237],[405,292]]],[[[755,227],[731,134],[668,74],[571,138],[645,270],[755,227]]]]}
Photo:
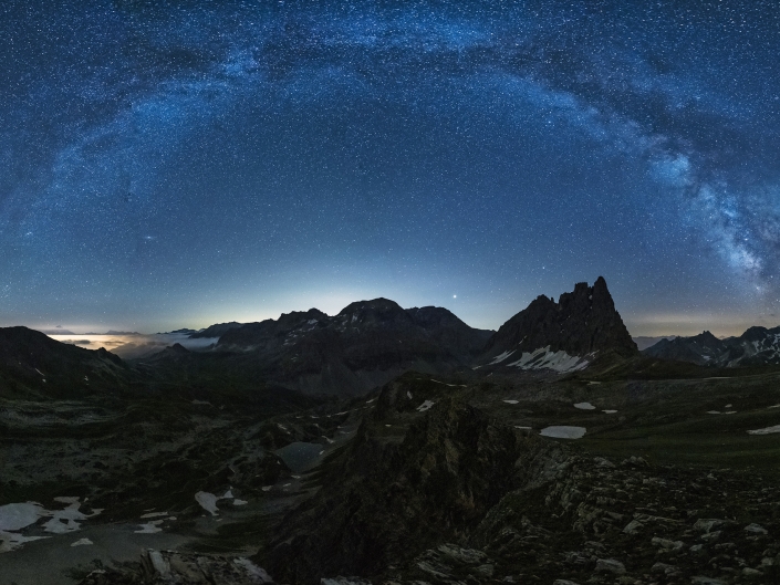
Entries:
{"type": "Polygon", "coordinates": [[[374,299],[165,339],[206,332],[0,328],[0,581],[780,582],[778,373],[734,367],[780,331],[641,353],[600,278],[496,332],[374,299]]]}

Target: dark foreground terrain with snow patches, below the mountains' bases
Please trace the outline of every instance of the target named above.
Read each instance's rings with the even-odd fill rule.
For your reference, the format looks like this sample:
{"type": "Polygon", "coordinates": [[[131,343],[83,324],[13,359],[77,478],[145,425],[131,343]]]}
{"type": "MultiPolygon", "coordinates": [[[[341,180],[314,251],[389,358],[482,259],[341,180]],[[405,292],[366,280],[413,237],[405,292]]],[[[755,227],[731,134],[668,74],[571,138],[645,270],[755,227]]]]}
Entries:
{"type": "Polygon", "coordinates": [[[6,397],[0,583],[780,582],[780,374],[477,374],[6,397]]]}

